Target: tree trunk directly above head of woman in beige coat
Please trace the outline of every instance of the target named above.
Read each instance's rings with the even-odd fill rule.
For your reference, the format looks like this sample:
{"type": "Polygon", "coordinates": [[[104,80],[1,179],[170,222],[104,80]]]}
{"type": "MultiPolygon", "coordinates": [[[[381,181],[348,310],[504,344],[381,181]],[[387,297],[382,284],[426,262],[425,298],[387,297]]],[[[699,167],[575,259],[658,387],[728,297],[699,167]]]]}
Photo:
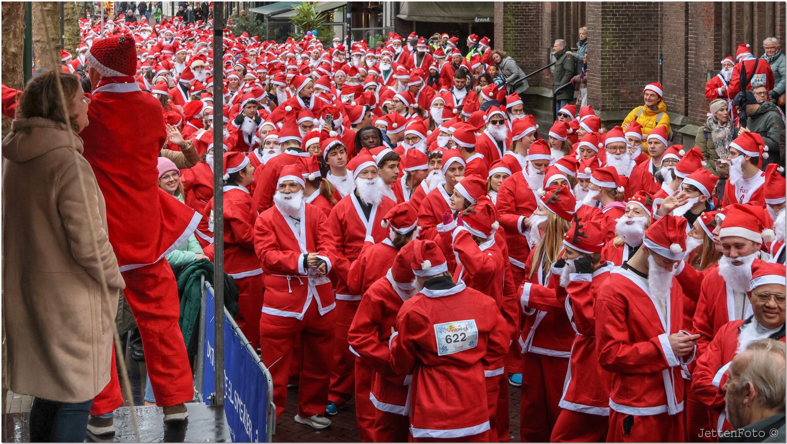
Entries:
{"type": "Polygon", "coordinates": [[[33,65],[35,69],[61,69],[60,5],[33,2],[33,65]]]}

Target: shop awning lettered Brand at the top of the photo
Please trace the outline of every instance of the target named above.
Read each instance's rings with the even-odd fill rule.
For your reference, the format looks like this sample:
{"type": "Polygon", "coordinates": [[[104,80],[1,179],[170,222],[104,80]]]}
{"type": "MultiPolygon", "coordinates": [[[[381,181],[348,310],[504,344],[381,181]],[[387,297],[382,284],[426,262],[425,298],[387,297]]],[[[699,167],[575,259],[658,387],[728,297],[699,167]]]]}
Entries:
{"type": "Polygon", "coordinates": [[[494,2],[401,2],[397,17],[444,23],[491,22],[494,20],[494,2]]]}

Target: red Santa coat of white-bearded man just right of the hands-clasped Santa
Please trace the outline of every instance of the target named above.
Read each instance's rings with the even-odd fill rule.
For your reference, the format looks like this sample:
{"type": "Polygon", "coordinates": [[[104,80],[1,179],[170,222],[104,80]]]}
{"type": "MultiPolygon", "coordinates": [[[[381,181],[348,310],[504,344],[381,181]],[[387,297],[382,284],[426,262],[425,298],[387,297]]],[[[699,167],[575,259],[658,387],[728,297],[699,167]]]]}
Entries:
{"type": "Polygon", "coordinates": [[[338,300],[360,301],[360,293],[353,293],[348,285],[350,267],[360,256],[366,239],[373,239],[376,243],[388,238],[388,228],[383,228],[380,223],[394,205],[396,204],[390,198],[383,197],[379,205],[372,205],[367,220],[364,210],[361,209],[360,199],[353,192],[337,202],[328,216],[329,228],[336,245],[334,273],[337,278],[338,300]]]}

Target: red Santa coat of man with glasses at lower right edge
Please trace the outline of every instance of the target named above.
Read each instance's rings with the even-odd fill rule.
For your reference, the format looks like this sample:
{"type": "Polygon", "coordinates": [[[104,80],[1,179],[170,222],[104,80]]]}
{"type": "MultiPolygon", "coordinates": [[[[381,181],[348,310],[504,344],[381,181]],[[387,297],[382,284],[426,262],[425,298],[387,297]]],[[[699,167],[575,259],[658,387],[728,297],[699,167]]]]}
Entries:
{"type": "MultiPolygon", "coordinates": [[[[729,379],[727,369],[730,368],[733,357],[737,355],[741,329],[755,327],[752,325],[752,322],[756,322],[756,320],[753,317],[749,317],[747,320],[733,320],[719,328],[705,353],[697,358],[696,367],[692,372],[691,387],[693,394],[704,405],[708,406],[713,419],[711,424],[719,431],[733,429],[730,422],[726,420],[724,390],[722,390],[722,387],[729,379]]],[[[785,342],[784,325],[774,335],[765,334],[752,339],[763,338],[778,339],[781,342],[785,342]]]]}

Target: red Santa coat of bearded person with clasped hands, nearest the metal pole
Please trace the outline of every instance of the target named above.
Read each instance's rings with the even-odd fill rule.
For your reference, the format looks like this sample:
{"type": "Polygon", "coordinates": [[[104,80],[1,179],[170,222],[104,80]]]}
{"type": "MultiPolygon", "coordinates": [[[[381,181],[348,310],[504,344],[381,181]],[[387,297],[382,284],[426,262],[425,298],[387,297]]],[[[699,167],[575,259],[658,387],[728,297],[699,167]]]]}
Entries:
{"type": "Polygon", "coordinates": [[[303,261],[306,253],[317,253],[331,271],[335,246],[326,217],[316,206],[305,204],[300,219],[296,229],[290,217],[273,206],[254,223],[254,251],[265,272],[262,313],[302,320],[312,302],[320,315],[336,306],[330,280],[307,277],[303,261]]]}

